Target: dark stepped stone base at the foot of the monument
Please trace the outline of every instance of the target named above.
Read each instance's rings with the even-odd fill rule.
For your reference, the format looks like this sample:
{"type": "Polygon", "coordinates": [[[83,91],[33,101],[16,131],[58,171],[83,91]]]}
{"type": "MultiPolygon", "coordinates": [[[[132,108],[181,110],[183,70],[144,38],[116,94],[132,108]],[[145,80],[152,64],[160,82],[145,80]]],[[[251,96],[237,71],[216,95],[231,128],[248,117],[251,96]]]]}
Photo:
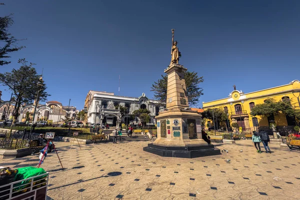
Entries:
{"type": "Polygon", "coordinates": [[[148,146],[143,147],[143,150],[163,157],[194,158],[221,154],[220,149],[215,148],[213,144],[196,146],[162,146],[149,143],[148,146]]]}

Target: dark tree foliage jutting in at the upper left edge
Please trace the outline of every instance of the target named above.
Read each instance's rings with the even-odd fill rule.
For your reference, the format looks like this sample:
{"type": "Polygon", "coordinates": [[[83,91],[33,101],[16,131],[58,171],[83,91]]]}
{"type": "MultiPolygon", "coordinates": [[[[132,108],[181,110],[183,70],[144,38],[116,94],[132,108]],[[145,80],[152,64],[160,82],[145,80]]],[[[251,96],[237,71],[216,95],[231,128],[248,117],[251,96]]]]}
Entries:
{"type": "MultiPolygon", "coordinates": [[[[3,4],[1,4],[3,5],[3,4]]],[[[7,55],[10,52],[18,51],[19,49],[25,46],[17,46],[17,41],[14,36],[11,35],[8,30],[9,27],[13,24],[12,14],[0,17],[0,65],[9,64],[10,61],[4,60],[9,58],[7,55]]]]}

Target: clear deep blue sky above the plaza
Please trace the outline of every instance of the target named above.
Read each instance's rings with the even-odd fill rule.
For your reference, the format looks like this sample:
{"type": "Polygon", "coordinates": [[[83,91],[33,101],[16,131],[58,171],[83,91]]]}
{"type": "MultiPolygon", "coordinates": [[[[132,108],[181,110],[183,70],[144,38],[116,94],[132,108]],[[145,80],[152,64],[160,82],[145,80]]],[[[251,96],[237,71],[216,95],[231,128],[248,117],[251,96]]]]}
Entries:
{"type": "MultiPolygon", "coordinates": [[[[26,48],[10,53],[44,68],[51,96],[82,108],[88,90],[152,98],[170,62],[171,28],[179,63],[204,76],[200,102],[286,84],[299,77],[298,0],[1,0],[10,32],[26,48]]],[[[4,87],[0,86],[0,90],[4,87]]],[[[2,99],[10,93],[2,91],[2,99]]],[[[202,106],[200,103],[198,106],[202,106]]]]}

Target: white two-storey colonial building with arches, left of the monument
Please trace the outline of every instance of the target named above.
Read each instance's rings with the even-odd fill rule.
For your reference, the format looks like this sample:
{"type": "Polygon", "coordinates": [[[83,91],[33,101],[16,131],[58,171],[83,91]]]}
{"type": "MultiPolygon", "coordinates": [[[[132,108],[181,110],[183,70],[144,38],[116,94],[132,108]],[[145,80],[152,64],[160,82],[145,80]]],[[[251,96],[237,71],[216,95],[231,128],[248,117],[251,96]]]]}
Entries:
{"type": "Polygon", "coordinates": [[[160,106],[159,102],[146,97],[142,93],[139,97],[117,96],[114,93],[105,91],[89,90],[86,95],[84,110],[86,110],[86,119],[88,123],[108,123],[109,126],[119,127],[120,123],[138,124],[138,117],[130,118],[130,114],[139,108],[150,111],[150,122],[148,125],[155,124],[155,116],[163,110],[165,106],[160,106]],[[119,109],[115,106],[122,105],[127,107],[127,112],[121,116],[119,109]]]}

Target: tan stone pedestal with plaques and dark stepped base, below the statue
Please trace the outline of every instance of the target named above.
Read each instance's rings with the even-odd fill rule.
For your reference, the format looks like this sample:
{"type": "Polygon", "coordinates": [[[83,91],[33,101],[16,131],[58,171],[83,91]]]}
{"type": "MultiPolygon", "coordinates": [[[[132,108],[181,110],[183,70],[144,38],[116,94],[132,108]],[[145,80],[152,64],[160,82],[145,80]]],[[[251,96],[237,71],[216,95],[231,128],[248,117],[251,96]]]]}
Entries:
{"type": "Polygon", "coordinates": [[[221,154],[212,144],[207,144],[201,134],[201,114],[188,106],[182,65],[171,64],[167,73],[166,110],[155,117],[157,139],[144,151],[160,156],[200,157],[221,154]]]}

